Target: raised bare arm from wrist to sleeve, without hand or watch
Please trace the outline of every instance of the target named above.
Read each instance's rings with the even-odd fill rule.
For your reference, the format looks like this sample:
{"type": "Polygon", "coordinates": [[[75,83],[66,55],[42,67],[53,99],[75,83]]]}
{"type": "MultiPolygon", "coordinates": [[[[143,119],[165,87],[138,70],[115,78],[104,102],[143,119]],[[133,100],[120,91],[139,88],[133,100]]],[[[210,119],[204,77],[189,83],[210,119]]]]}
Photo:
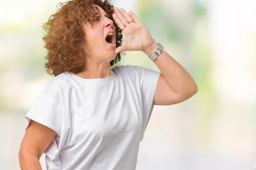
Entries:
{"type": "MultiPolygon", "coordinates": [[[[150,56],[157,49],[157,42],[151,46],[145,54],[150,56]]],[[[154,105],[173,105],[189,99],[197,93],[198,87],[194,79],[174,58],[163,50],[157,59],[155,65],[161,71],[157,82],[157,88],[154,96],[154,105]]]]}

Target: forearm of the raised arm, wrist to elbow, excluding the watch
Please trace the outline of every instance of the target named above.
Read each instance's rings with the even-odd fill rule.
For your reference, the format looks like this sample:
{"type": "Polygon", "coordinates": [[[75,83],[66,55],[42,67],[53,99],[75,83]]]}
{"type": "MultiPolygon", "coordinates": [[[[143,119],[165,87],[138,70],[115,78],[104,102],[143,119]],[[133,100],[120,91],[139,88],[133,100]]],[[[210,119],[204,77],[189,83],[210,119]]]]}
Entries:
{"type": "MultiPolygon", "coordinates": [[[[157,42],[154,41],[153,45],[144,52],[150,56],[154,53],[157,47],[157,42]]],[[[157,57],[157,59],[155,59],[153,62],[163,74],[163,77],[165,78],[169,87],[176,94],[182,96],[192,96],[198,91],[194,79],[189,75],[185,68],[183,68],[166,51],[163,50],[159,57],[157,57]]]]}

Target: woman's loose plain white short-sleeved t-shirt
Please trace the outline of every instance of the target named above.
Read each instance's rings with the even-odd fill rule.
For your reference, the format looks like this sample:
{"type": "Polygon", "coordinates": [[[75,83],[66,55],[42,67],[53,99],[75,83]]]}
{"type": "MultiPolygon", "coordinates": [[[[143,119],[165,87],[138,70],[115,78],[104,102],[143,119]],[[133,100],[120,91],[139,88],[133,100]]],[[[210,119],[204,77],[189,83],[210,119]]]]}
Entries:
{"type": "Polygon", "coordinates": [[[57,133],[47,170],[135,170],[160,74],[125,65],[103,79],[54,77],[25,116],[57,133]]]}

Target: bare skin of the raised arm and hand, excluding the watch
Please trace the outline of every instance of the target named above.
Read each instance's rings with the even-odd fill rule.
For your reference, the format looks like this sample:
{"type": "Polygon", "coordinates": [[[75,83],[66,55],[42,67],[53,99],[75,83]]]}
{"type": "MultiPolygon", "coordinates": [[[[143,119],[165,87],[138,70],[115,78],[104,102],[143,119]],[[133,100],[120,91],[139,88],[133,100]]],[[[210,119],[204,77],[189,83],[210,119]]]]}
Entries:
{"type": "MultiPolygon", "coordinates": [[[[132,12],[115,8],[113,19],[123,28],[126,43],[116,49],[119,51],[143,51],[147,56],[156,51],[157,42],[151,37],[146,26],[132,12]],[[129,23],[131,20],[134,22],[129,23]]],[[[165,50],[155,59],[154,64],[161,71],[154,95],[154,105],[173,105],[189,99],[198,92],[194,79],[165,50]]]]}

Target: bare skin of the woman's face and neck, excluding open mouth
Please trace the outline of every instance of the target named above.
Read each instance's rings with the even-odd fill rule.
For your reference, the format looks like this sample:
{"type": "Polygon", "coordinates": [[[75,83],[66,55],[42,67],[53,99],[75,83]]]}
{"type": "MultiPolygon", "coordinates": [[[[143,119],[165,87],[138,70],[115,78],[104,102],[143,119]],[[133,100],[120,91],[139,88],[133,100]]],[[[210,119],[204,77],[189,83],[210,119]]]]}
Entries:
{"type": "MultiPolygon", "coordinates": [[[[96,5],[97,6],[97,5],[96,5]]],[[[95,23],[94,27],[90,23],[84,25],[85,41],[88,43],[89,49],[84,48],[86,54],[84,71],[76,73],[85,79],[96,79],[110,77],[111,65],[110,61],[116,57],[116,47],[111,47],[105,40],[109,31],[113,31],[114,42],[116,42],[116,31],[113,21],[108,18],[108,14],[100,7],[101,17],[95,23]]]]}

